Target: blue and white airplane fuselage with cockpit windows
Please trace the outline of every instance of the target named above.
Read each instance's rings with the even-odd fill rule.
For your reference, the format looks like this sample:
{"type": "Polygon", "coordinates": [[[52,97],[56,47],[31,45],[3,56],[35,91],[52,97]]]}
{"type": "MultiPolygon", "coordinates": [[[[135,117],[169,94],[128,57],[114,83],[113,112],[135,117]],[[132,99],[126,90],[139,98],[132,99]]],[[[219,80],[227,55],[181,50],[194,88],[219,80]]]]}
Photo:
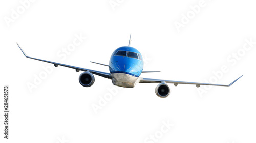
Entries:
{"type": "Polygon", "coordinates": [[[143,70],[142,56],[133,47],[117,48],[111,55],[109,70],[114,85],[133,88],[143,70]]]}

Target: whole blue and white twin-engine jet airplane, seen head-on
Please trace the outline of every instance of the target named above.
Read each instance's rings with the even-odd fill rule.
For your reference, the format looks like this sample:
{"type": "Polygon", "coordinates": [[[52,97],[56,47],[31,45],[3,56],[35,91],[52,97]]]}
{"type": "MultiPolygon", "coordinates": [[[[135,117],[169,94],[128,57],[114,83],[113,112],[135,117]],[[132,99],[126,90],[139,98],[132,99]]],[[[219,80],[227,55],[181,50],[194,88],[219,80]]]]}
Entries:
{"type": "Polygon", "coordinates": [[[130,46],[131,35],[132,34],[130,34],[128,46],[119,47],[112,53],[109,61],[109,65],[91,61],[92,63],[95,63],[95,64],[108,66],[110,73],[70,66],[66,64],[41,60],[37,58],[32,58],[26,55],[26,53],[24,52],[24,50],[22,50],[22,48],[18,45],[18,43],[16,44],[18,45],[19,49],[22,50],[26,58],[51,63],[51,64],[54,64],[55,67],[63,66],[63,67],[72,68],[72,69],[75,69],[76,72],[84,71],[79,76],[79,83],[83,87],[91,87],[91,85],[93,85],[95,81],[94,75],[111,79],[114,85],[119,87],[124,87],[124,88],[133,88],[135,87],[136,83],[159,83],[155,89],[155,93],[158,97],[161,97],[161,98],[166,98],[170,94],[170,88],[168,87],[167,83],[173,83],[175,86],[177,86],[178,84],[194,84],[196,85],[197,88],[200,87],[200,85],[215,85],[215,86],[230,87],[234,82],[236,82],[239,78],[243,76],[243,75],[240,76],[238,79],[234,80],[228,85],[141,78],[140,77],[141,73],[160,72],[160,71],[143,71],[143,59],[142,59],[141,53],[137,49],[130,46]]]}

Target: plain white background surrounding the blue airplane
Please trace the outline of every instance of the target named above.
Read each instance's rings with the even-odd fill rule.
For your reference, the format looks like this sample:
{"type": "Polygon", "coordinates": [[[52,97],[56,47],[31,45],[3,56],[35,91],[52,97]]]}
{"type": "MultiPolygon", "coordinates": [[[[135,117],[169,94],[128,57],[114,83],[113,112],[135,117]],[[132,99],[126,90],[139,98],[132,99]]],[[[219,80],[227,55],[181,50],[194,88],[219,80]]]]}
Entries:
{"type": "MultiPolygon", "coordinates": [[[[245,39],[256,41],[253,1],[205,0],[180,32],[175,21],[181,23],[182,14],[198,0],[124,0],[114,9],[109,2],[35,1],[10,23],[6,17],[23,5],[0,3],[1,86],[10,86],[10,139],[1,133],[2,141],[154,142],[147,137],[169,122],[174,126],[158,136],[158,142],[256,142],[256,44],[242,49],[245,39]],[[212,72],[223,65],[228,72],[218,84],[244,76],[231,87],[210,90],[169,84],[172,93],[162,99],[155,94],[157,84],[116,89],[111,80],[95,75],[92,87],[85,88],[78,82],[81,72],[58,67],[29,90],[34,76],[50,64],[25,58],[15,42],[35,58],[109,72],[90,61],[108,64],[116,48],[127,46],[130,33],[131,45],[147,59],[144,70],[162,71],[141,77],[209,82],[217,79],[212,72]],[[67,49],[76,34],[87,39],[63,60],[57,53],[67,49]],[[238,51],[240,60],[228,62],[238,51]],[[106,94],[113,98],[96,113],[92,105],[99,105],[106,94]]],[[[1,116],[2,131],[3,121],[1,116]]]]}

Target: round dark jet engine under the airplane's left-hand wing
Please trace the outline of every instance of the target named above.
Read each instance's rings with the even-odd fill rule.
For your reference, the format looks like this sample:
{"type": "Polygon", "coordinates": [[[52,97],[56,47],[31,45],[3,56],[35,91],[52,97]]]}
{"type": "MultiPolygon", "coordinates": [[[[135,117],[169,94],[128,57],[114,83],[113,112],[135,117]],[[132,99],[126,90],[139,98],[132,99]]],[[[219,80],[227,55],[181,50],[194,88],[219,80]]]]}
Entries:
{"type": "Polygon", "coordinates": [[[91,87],[94,83],[95,79],[92,73],[90,72],[84,72],[80,74],[79,76],[79,83],[83,87],[91,87]]]}

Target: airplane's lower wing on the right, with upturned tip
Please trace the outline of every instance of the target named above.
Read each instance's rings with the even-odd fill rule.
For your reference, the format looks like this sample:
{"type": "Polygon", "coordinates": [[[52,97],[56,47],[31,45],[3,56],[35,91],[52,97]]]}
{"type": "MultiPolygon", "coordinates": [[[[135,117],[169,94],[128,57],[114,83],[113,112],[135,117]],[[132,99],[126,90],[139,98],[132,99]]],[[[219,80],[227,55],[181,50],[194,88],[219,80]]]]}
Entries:
{"type": "MultiPolygon", "coordinates": [[[[243,76],[243,75],[242,75],[243,76]]],[[[240,76],[239,78],[241,78],[240,76]]],[[[238,79],[239,79],[238,78],[238,79]]],[[[224,87],[230,87],[234,82],[236,82],[238,79],[234,80],[228,85],[223,85],[223,84],[211,84],[211,83],[198,83],[198,82],[185,82],[185,81],[172,81],[172,80],[161,80],[161,79],[150,79],[150,78],[140,78],[139,83],[174,83],[175,86],[178,84],[194,84],[197,87],[200,87],[200,85],[214,85],[214,86],[224,86],[224,87]]]]}

